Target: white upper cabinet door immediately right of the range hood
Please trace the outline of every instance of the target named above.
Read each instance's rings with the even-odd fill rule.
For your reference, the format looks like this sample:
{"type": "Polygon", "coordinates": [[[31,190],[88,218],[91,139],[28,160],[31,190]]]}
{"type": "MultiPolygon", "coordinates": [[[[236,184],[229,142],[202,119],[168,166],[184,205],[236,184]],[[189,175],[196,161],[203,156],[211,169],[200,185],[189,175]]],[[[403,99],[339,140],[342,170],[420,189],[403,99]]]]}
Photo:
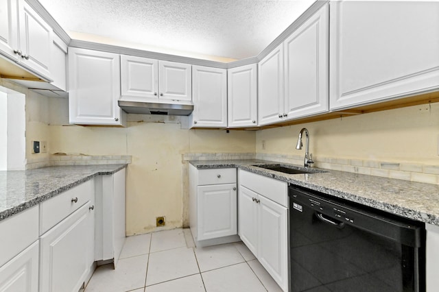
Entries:
{"type": "Polygon", "coordinates": [[[192,127],[227,127],[227,71],[193,66],[192,127]]]}

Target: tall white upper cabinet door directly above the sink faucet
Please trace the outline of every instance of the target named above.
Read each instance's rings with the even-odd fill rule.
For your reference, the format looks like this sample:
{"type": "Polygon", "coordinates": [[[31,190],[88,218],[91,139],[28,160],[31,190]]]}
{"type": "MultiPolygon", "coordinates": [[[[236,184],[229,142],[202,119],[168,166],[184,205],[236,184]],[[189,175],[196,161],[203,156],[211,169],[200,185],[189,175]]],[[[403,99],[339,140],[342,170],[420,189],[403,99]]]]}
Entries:
{"type": "Polygon", "coordinates": [[[328,5],[324,5],[284,42],[285,119],[329,110],[328,5]]]}

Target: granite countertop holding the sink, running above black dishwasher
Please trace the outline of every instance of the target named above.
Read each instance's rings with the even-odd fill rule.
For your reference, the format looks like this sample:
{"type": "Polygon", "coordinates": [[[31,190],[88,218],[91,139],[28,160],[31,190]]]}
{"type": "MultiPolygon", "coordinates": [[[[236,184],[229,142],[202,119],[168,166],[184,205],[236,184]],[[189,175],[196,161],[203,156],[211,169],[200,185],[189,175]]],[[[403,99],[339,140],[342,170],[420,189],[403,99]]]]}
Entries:
{"type": "Polygon", "coordinates": [[[238,167],[395,215],[439,226],[439,185],[437,184],[380,178],[328,169],[321,169],[327,171],[324,173],[287,174],[252,166],[258,164],[287,165],[265,160],[211,160],[191,161],[190,163],[198,169],[238,167]]]}

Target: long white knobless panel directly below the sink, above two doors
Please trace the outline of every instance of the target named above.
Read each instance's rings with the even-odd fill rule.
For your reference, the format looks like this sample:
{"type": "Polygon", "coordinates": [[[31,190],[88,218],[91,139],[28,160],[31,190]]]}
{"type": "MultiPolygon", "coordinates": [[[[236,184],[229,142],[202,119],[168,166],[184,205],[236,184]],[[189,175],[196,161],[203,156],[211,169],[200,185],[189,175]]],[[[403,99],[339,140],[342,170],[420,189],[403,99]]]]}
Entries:
{"type": "Polygon", "coordinates": [[[239,169],[239,184],[288,208],[288,184],[281,180],[239,169]]]}

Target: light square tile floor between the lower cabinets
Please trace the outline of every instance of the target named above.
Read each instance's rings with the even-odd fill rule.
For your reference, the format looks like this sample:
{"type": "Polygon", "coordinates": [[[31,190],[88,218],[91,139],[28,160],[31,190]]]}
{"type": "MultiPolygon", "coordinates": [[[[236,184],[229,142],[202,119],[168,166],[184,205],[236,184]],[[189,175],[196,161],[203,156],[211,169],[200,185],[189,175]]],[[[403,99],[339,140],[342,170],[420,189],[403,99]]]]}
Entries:
{"type": "Polygon", "coordinates": [[[189,229],[127,237],[116,269],[97,267],[85,292],[278,292],[244,243],[195,248],[189,229]]]}

